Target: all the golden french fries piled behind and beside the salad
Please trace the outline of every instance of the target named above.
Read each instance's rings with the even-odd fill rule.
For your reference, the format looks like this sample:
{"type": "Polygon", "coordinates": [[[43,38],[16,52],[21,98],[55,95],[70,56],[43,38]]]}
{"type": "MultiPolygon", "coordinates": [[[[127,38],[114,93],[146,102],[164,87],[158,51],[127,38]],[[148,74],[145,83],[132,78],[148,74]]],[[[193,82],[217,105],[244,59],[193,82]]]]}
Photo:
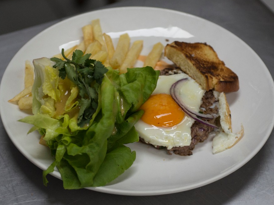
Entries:
{"type": "MultiPolygon", "coordinates": [[[[136,40],[130,42],[127,33],[120,35],[116,48],[113,45],[112,38],[102,32],[99,19],[92,20],[90,24],[82,27],[83,40],[78,44],[67,49],[64,54],[71,59],[75,50],[81,50],[91,53],[91,59],[101,61],[103,65],[111,66],[112,69],[118,69],[120,73],[125,73],[127,68],[133,68],[143,49],[143,41],[136,40]]],[[[162,56],[164,46],[161,42],[156,43],[144,60],[145,66],[155,68],[157,62],[162,56]]],[[[54,57],[63,59],[59,53],[54,57]]],[[[63,59],[64,60],[64,59],[63,59]]],[[[25,88],[9,102],[18,103],[19,109],[32,109],[31,90],[34,82],[34,67],[29,61],[25,62],[25,88]]]]}

